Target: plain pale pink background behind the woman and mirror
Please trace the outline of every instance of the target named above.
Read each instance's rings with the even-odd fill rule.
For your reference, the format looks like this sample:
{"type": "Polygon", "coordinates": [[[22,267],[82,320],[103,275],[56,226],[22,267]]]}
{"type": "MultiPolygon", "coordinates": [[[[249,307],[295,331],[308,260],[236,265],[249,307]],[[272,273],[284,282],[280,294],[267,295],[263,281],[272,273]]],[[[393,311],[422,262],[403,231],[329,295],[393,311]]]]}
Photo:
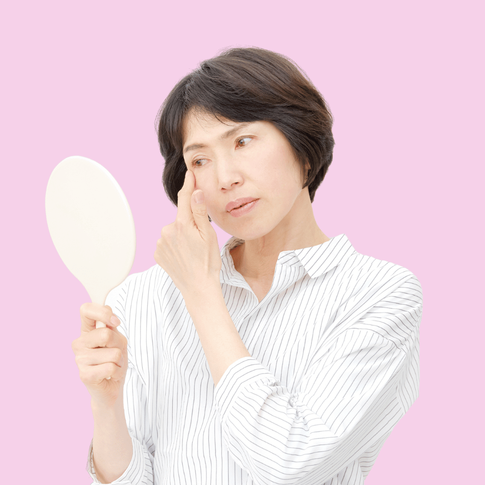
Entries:
{"type": "MultiPolygon", "coordinates": [[[[366,484],[476,482],[484,326],[479,2],[180,5],[2,7],[2,483],[90,483],[90,397],[71,350],[89,297],[49,236],[50,173],[71,155],[104,165],[133,213],[132,273],[154,265],[159,233],[176,216],[162,187],[155,115],[180,78],[231,46],[289,56],[330,105],[334,161],[313,203],[323,232],[345,233],[358,252],[400,264],[421,282],[420,397],[366,484]]],[[[230,235],[212,225],[222,246],[230,235]]]]}

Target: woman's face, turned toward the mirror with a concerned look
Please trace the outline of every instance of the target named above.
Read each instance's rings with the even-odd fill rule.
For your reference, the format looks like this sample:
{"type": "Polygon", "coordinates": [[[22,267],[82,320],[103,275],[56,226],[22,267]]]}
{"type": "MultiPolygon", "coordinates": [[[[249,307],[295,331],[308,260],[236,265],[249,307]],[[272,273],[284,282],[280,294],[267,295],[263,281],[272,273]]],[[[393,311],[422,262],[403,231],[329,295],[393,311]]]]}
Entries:
{"type": "Polygon", "coordinates": [[[210,218],[227,233],[252,240],[278,225],[287,230],[297,217],[291,209],[302,192],[300,165],[272,123],[222,123],[209,114],[189,113],[183,156],[195,176],[194,190],[204,192],[210,218]],[[259,200],[235,217],[226,204],[242,197],[259,200]]]}

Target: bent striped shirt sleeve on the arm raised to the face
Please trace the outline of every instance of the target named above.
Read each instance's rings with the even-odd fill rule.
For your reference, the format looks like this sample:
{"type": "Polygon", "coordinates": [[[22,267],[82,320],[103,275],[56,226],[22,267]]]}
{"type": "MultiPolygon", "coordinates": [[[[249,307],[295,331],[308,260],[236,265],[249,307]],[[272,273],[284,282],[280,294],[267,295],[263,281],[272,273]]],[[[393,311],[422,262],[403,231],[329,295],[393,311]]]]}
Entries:
{"type": "Polygon", "coordinates": [[[311,357],[292,391],[253,357],[229,366],[214,400],[255,484],[324,483],[385,439],[417,398],[421,307],[412,275],[311,357]]]}

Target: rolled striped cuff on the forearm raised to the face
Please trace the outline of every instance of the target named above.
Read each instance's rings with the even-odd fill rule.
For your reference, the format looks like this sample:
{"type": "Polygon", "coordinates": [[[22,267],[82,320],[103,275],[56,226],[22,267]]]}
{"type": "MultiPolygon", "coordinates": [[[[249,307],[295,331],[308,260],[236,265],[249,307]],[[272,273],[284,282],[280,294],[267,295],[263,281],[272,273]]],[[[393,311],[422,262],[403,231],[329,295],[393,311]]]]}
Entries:
{"type": "MultiPolygon", "coordinates": [[[[259,381],[259,385],[262,386],[281,385],[275,376],[253,357],[242,357],[226,369],[214,392],[214,402],[221,416],[221,423],[226,420],[232,404],[237,400],[242,389],[256,381],[259,381]]],[[[262,405],[266,395],[261,398],[262,405]]]]}

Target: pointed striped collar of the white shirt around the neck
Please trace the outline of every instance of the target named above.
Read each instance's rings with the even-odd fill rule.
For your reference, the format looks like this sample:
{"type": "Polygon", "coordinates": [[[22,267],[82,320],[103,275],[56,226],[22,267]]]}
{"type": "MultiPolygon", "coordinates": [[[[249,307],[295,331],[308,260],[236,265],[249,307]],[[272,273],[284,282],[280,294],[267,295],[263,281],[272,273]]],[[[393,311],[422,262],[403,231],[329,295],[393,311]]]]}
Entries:
{"type": "MultiPolygon", "coordinates": [[[[229,251],[243,242],[243,239],[233,236],[224,244],[221,250],[221,259],[223,261],[221,283],[229,283],[233,277],[239,274],[234,268],[229,251]]],[[[317,278],[346,261],[354,253],[356,253],[356,250],[347,236],[340,234],[316,246],[281,251],[276,264],[303,266],[311,278],[317,278]]]]}

